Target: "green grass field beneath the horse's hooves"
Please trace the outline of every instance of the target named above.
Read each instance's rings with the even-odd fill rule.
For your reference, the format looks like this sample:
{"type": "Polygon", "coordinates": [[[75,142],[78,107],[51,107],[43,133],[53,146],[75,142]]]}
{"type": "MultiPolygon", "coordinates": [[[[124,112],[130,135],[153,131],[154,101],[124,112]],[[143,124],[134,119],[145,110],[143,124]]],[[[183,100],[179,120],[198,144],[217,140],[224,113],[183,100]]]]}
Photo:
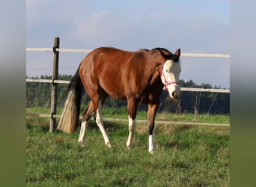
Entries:
{"type": "MultiPolygon", "coordinates": [[[[172,115],[157,117],[166,120],[175,117],[172,115]]],[[[198,119],[229,123],[227,116],[192,120],[198,119]]],[[[103,143],[94,120],[88,128],[86,147],[77,142],[79,129],[72,135],[49,133],[48,123],[38,117],[27,119],[27,186],[229,186],[228,126],[157,125],[155,149],[150,155],[145,123],[136,125],[131,150],[126,147],[128,125],[124,122],[104,124],[111,150],[103,143]]]]}

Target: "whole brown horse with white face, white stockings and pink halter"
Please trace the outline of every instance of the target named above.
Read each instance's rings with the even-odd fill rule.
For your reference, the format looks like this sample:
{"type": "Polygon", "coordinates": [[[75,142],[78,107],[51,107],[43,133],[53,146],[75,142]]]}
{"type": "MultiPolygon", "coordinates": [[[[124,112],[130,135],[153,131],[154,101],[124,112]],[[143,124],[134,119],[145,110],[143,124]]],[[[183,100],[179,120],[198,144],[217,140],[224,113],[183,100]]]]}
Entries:
{"type": "Polygon", "coordinates": [[[79,65],[70,82],[68,96],[58,123],[58,129],[71,133],[77,128],[82,91],[91,98],[82,114],[79,143],[85,144],[85,131],[94,115],[107,147],[111,147],[103,127],[102,105],[108,96],[127,100],[129,136],[127,147],[132,144],[136,110],[139,103],[147,105],[149,148],[153,153],[153,130],[159,96],[162,88],[171,98],[180,95],[180,49],[173,54],[167,49],[140,49],[127,52],[112,47],[101,47],[90,52],[79,65]]]}

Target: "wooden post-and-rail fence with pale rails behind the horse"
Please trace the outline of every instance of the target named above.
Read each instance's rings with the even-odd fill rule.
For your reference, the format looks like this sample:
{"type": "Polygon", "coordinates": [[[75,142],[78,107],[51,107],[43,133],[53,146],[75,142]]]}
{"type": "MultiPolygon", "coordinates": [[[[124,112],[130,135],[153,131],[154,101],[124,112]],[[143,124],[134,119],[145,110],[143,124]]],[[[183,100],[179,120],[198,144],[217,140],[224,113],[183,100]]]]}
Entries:
{"type": "MultiPolygon", "coordinates": [[[[26,48],[26,52],[53,52],[53,72],[52,79],[26,79],[26,82],[43,82],[52,84],[52,99],[51,99],[51,114],[30,114],[27,113],[28,117],[48,117],[50,118],[49,131],[52,132],[56,126],[56,117],[60,115],[56,114],[56,96],[57,96],[57,85],[58,84],[69,84],[70,81],[58,80],[58,55],[59,52],[92,52],[92,49],[64,49],[59,47],[59,37],[55,37],[54,46],[52,48],[26,48]]],[[[203,53],[181,53],[182,57],[189,58],[230,58],[229,54],[203,54],[203,53]]],[[[210,89],[210,88],[180,88],[181,91],[196,91],[196,92],[215,92],[215,93],[230,93],[230,90],[226,89],[210,89]]],[[[114,118],[105,118],[104,120],[121,120],[114,118]]],[[[127,120],[126,120],[127,121],[127,120]]],[[[136,120],[138,123],[147,123],[147,120],[136,120]]],[[[192,122],[174,122],[174,121],[156,121],[156,123],[168,123],[168,124],[183,124],[183,125],[206,125],[206,126],[229,126],[229,124],[221,123],[192,123],[192,122]]]]}

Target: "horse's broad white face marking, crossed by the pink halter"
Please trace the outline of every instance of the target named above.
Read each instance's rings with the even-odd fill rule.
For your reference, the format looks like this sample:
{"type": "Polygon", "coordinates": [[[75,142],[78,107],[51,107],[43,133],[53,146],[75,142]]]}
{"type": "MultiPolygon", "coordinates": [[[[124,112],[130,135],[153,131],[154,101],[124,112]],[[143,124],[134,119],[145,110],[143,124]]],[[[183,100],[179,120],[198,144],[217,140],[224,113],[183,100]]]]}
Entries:
{"type": "Polygon", "coordinates": [[[167,86],[168,93],[171,98],[177,98],[180,95],[180,85],[176,83],[168,84],[168,82],[179,82],[180,79],[180,63],[171,60],[165,61],[162,67],[162,83],[167,86]]]}

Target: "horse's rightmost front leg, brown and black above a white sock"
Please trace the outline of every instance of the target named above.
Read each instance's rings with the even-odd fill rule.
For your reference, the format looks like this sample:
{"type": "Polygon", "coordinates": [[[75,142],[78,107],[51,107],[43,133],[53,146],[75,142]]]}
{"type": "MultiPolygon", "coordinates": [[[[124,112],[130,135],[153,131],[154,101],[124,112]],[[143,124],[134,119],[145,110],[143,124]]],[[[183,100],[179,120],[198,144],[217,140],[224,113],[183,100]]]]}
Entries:
{"type": "Polygon", "coordinates": [[[148,152],[150,154],[153,154],[153,132],[155,129],[155,117],[156,117],[156,111],[159,108],[159,103],[155,104],[148,104],[147,105],[147,123],[149,126],[148,129],[148,152]]]}

